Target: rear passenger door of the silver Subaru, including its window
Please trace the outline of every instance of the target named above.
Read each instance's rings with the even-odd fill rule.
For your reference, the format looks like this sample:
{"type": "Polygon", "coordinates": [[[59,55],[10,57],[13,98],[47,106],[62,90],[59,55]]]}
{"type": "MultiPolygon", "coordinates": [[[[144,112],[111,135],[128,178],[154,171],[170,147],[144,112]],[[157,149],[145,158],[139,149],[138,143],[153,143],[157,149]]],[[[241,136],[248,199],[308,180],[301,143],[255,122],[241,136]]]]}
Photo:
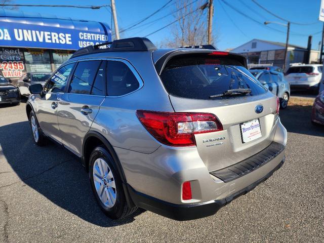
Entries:
{"type": "Polygon", "coordinates": [[[106,61],[79,61],[58,109],[62,143],[77,155],[105,96],[106,61]]]}

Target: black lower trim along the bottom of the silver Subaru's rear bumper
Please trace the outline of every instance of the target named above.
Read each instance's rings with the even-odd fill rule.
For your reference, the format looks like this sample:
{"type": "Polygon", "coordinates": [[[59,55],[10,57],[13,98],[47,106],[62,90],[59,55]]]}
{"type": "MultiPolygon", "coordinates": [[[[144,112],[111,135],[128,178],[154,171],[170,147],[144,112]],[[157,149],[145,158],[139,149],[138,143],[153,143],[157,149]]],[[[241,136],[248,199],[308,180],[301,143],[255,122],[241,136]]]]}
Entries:
{"type": "Polygon", "coordinates": [[[171,204],[167,201],[163,201],[155,197],[138,192],[128,184],[127,187],[129,194],[131,195],[131,198],[137,207],[174,220],[193,220],[214,215],[220,208],[229,204],[233,199],[237,198],[240,195],[246,194],[247,192],[254,189],[258,184],[268,179],[276,170],[278,170],[284,164],[284,161],[285,159],[283,159],[266,176],[252,183],[248,187],[241,189],[240,191],[224,199],[207,201],[205,203],[188,205],[171,204]]]}

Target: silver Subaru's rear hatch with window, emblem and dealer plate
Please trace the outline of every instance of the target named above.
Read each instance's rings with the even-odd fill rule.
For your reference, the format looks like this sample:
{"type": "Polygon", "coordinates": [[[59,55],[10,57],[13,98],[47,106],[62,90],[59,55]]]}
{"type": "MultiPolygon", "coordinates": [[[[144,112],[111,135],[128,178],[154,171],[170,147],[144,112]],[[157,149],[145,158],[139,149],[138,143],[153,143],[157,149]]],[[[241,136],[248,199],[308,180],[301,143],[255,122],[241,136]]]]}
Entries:
{"type": "Polygon", "coordinates": [[[209,171],[251,157],[273,140],[277,99],[245,66],[234,54],[187,53],[171,58],[160,72],[176,112],[212,113],[223,127],[194,135],[209,171]],[[230,90],[237,92],[226,94],[230,90]]]}

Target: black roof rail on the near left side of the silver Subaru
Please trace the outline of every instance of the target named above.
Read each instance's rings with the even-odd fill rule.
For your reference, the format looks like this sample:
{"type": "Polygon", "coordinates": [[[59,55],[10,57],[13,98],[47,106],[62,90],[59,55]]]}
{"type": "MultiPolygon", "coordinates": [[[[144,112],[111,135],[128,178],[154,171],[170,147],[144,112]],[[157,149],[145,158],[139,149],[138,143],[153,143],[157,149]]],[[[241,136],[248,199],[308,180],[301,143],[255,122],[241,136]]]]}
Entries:
{"type": "Polygon", "coordinates": [[[145,52],[155,49],[156,47],[148,38],[133,37],[81,48],[74,52],[71,58],[99,52],[145,52]]]}

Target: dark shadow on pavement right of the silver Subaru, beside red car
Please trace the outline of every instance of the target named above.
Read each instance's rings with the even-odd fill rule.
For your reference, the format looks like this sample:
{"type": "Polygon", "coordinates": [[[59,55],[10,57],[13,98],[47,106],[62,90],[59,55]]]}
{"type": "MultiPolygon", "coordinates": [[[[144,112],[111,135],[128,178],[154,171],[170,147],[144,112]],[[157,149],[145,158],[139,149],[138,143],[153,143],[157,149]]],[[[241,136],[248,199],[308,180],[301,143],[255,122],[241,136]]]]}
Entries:
{"type": "Polygon", "coordinates": [[[324,137],[324,126],[311,123],[312,106],[291,105],[279,111],[281,123],[288,132],[324,137]]]}

